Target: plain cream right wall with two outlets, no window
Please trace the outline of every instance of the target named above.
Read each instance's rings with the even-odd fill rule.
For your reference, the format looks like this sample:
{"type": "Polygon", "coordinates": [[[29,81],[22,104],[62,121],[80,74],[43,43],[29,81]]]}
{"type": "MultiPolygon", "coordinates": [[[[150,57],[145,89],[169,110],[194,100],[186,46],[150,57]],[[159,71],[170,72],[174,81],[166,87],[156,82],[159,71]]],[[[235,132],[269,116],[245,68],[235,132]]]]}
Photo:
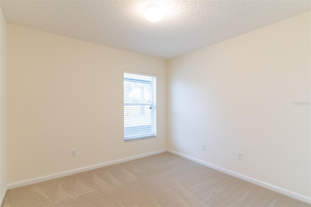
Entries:
{"type": "Polygon", "coordinates": [[[168,148],[311,197],[310,15],[170,60],[168,148]]]}

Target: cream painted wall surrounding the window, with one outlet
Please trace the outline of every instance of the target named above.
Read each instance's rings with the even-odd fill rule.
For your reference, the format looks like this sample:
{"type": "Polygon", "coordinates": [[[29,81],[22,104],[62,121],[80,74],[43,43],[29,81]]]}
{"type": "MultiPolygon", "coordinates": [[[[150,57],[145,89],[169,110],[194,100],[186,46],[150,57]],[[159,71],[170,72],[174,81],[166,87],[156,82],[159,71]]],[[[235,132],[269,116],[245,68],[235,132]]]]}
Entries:
{"type": "Polygon", "coordinates": [[[167,148],[164,60],[12,24],[7,31],[8,183],[167,148]],[[124,142],[123,70],[156,74],[157,138],[124,142]]]}

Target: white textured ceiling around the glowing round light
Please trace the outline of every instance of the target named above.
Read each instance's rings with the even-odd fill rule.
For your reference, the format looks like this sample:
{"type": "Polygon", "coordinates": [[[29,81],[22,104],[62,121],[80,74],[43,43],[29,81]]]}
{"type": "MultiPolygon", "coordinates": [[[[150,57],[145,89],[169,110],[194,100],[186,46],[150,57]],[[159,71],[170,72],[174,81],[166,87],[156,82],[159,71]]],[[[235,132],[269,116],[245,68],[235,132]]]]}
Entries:
{"type": "Polygon", "coordinates": [[[310,11],[309,0],[1,0],[8,23],[170,59],[310,11]],[[143,16],[166,5],[159,22],[143,16]]]}

